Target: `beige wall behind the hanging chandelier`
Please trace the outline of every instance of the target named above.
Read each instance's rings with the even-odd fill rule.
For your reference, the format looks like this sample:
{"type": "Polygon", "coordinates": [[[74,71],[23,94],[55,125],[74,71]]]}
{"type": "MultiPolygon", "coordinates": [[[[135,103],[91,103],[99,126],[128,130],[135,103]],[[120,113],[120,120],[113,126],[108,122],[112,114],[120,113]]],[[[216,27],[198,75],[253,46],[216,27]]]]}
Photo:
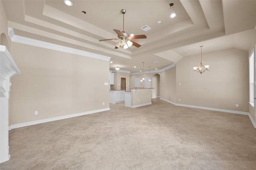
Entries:
{"type": "Polygon", "coordinates": [[[177,103],[248,112],[248,53],[239,49],[204,53],[203,61],[210,65],[203,74],[193,71],[200,64],[198,55],[176,64],[177,103]]]}

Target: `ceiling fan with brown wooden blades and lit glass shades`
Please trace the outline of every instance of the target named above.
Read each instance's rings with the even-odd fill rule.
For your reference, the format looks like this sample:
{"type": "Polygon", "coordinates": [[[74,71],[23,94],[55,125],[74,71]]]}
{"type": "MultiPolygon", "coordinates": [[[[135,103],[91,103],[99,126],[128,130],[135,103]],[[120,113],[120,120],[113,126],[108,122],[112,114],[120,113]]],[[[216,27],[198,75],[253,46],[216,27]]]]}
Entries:
{"type": "Polygon", "coordinates": [[[146,35],[129,35],[128,33],[124,32],[124,14],[126,13],[125,9],[121,10],[123,14],[123,31],[119,31],[117,29],[113,29],[117,33],[118,38],[112,38],[112,39],[100,39],[99,41],[108,41],[108,40],[119,40],[119,42],[116,44],[115,49],[118,49],[120,46],[124,46],[124,49],[127,49],[131,45],[134,45],[135,47],[140,47],[141,45],[132,41],[132,39],[143,39],[147,38],[146,35]]]}

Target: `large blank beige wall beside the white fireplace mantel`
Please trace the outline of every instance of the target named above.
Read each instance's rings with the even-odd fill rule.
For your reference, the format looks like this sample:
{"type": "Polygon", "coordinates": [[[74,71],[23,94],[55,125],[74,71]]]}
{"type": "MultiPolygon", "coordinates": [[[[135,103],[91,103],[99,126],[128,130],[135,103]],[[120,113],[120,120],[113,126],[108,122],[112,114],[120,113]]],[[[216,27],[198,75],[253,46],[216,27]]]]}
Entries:
{"type": "Polygon", "coordinates": [[[109,61],[14,42],[12,57],[11,125],[109,107],[109,61]]]}

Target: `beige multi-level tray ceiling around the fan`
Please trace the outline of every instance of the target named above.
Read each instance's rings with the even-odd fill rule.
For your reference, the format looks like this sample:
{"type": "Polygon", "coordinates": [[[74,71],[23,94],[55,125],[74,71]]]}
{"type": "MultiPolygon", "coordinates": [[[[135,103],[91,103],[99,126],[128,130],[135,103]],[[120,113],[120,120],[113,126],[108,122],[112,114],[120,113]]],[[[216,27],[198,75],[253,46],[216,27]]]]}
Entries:
{"type": "Polygon", "coordinates": [[[2,0],[16,35],[111,57],[110,69],[162,69],[183,57],[238,48],[248,51],[256,37],[255,0],[2,0]],[[169,18],[174,3],[177,13],[169,18]],[[141,47],[114,49],[113,29],[145,34],[141,47]],[[81,12],[85,11],[86,14],[81,12]],[[157,24],[157,21],[161,21],[157,24]],[[152,29],[143,31],[148,25],[152,29]],[[154,63],[154,61],[159,61],[154,63]],[[137,66],[134,68],[134,66],[137,66]]]}

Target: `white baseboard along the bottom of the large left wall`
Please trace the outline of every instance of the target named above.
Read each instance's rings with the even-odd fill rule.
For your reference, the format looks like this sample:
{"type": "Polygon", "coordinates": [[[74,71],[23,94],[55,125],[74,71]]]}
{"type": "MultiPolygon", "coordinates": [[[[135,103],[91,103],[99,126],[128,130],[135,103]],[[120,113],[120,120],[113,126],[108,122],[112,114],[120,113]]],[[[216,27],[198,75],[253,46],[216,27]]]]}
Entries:
{"type": "Polygon", "coordinates": [[[19,128],[19,127],[36,125],[36,124],[40,124],[40,123],[46,123],[46,122],[50,122],[50,121],[56,121],[56,120],[67,119],[67,118],[71,118],[71,117],[88,115],[88,114],[98,113],[98,112],[101,112],[101,111],[108,111],[108,110],[110,110],[110,107],[105,108],[105,109],[86,111],[86,112],[82,112],[82,113],[75,113],[75,114],[71,114],[71,115],[52,117],[52,118],[48,118],[48,119],[41,119],[41,120],[36,120],[36,121],[29,121],[29,122],[24,122],[24,123],[18,123],[18,124],[10,125],[9,126],[9,131],[12,130],[12,129],[15,129],[15,128],[19,128]]]}

